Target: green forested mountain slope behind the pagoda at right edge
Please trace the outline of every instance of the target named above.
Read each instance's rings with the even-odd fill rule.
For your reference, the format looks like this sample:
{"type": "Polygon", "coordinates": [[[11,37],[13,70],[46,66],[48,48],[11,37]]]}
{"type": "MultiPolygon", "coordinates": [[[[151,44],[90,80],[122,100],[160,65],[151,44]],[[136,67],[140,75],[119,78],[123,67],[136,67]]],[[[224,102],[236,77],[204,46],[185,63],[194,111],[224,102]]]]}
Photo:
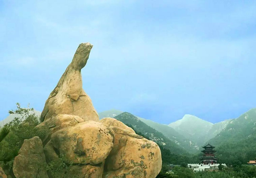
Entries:
{"type": "Polygon", "coordinates": [[[246,163],[256,158],[256,108],[250,109],[237,119],[229,120],[227,126],[210,139],[216,146],[221,162],[231,164],[239,160],[246,163]]]}

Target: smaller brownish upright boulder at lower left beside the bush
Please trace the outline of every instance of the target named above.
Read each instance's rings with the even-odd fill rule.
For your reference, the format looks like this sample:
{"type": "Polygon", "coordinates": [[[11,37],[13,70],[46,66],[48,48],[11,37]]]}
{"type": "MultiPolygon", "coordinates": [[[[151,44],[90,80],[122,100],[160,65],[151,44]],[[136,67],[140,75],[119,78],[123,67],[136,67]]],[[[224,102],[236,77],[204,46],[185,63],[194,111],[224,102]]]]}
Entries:
{"type": "Polygon", "coordinates": [[[14,158],[13,173],[16,178],[48,178],[43,170],[45,163],[42,141],[39,137],[25,139],[19,155],[14,158]]]}

